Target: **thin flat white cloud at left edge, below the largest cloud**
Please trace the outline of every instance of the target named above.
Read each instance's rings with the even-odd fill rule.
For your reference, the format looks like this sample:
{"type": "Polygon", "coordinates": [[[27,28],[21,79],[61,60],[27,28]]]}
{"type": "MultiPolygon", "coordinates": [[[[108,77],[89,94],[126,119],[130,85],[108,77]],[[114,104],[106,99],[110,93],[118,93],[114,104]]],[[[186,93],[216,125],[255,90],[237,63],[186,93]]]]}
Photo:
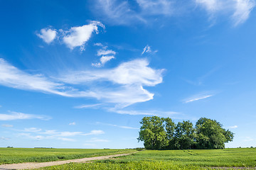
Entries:
{"type": "Polygon", "coordinates": [[[23,119],[41,119],[49,120],[50,117],[46,115],[31,115],[26,113],[18,113],[14,111],[9,111],[10,114],[0,114],[0,120],[23,120],[23,119]]]}

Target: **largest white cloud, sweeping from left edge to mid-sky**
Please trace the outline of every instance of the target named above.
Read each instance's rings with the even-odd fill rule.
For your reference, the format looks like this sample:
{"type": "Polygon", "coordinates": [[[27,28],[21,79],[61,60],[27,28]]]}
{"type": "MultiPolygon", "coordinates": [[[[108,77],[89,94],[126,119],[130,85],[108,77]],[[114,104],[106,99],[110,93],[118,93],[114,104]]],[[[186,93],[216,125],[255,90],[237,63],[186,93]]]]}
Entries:
{"type": "Polygon", "coordinates": [[[162,72],[164,69],[152,69],[147,60],[140,59],[123,62],[112,69],[63,72],[63,76],[49,79],[42,74],[23,72],[0,59],[1,85],[60,96],[92,97],[122,106],[153,99],[154,94],[144,89],[144,86],[160,84],[162,72]],[[107,82],[114,86],[106,87],[95,82],[107,82]]]}

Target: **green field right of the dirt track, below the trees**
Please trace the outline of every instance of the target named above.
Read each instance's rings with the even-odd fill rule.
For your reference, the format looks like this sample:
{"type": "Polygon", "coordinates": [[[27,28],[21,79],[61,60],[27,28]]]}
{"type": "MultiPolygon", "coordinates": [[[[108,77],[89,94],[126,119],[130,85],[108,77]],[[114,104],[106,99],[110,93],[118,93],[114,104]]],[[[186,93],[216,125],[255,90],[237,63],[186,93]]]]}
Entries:
{"type": "Polygon", "coordinates": [[[65,164],[44,169],[210,169],[255,167],[256,148],[218,150],[142,151],[89,164],[65,164]]]}

